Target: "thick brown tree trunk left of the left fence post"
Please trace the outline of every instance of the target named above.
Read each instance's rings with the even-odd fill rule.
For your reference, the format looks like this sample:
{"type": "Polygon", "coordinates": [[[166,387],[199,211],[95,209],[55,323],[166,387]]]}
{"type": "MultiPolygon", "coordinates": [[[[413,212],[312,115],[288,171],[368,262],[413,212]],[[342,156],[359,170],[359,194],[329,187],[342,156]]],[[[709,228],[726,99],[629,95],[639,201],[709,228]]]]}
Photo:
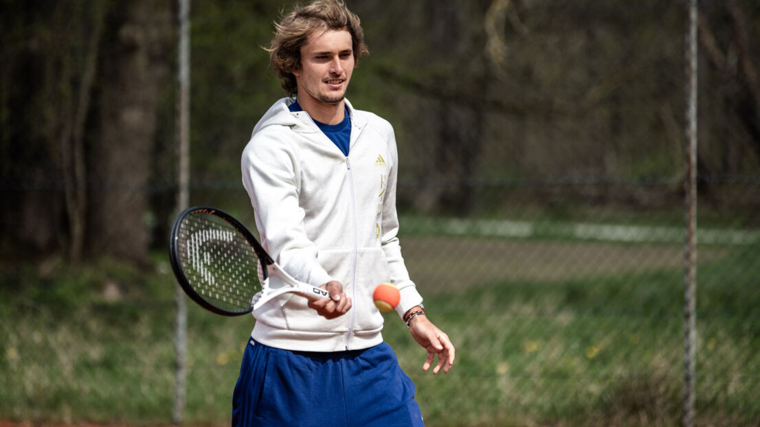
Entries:
{"type": "Polygon", "coordinates": [[[104,55],[100,135],[93,144],[90,248],[146,263],[150,233],[148,178],[157,108],[169,70],[169,2],[137,0],[120,7],[112,49],[104,55]]]}

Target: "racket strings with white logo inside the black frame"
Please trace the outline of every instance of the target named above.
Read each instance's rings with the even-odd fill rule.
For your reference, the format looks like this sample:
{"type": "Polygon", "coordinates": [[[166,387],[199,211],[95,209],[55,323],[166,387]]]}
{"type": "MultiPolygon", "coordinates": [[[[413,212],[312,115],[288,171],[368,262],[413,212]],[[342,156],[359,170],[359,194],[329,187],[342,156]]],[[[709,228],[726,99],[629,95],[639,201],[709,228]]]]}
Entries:
{"type": "Polygon", "coordinates": [[[208,213],[192,213],[182,220],[179,260],[193,289],[227,311],[251,307],[261,290],[258,257],[236,228],[208,213]]]}

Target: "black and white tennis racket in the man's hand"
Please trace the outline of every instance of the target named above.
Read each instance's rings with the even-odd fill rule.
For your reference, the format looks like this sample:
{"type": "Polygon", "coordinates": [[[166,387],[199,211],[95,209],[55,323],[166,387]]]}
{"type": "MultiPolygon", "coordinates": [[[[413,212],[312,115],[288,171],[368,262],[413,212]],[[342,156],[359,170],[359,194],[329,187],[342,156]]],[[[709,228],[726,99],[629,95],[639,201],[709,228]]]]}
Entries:
{"type": "Polygon", "coordinates": [[[169,235],[169,259],[179,286],[217,315],[244,315],[284,293],[330,298],[325,289],[287,274],[242,223],[214,207],[179,213],[169,235]],[[270,277],[286,286],[271,289],[270,277]]]}

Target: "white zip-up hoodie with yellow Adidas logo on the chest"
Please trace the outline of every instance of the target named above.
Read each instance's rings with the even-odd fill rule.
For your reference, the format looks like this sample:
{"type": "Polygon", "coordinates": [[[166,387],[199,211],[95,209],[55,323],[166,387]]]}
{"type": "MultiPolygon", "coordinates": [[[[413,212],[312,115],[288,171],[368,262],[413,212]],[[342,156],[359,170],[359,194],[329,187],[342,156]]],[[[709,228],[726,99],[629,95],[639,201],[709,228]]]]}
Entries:
{"type": "MultiPolygon", "coordinates": [[[[327,320],[287,293],[253,313],[251,336],[286,350],[357,350],[382,342],[383,317],[372,302],[379,283],[401,292],[398,315],[422,302],[397,239],[397,150],[391,124],[353,109],[349,155],[291,98],[274,103],[242,153],[242,182],[261,245],[298,280],[338,280],[353,306],[327,320]]],[[[271,286],[284,286],[273,277],[271,286]]]]}

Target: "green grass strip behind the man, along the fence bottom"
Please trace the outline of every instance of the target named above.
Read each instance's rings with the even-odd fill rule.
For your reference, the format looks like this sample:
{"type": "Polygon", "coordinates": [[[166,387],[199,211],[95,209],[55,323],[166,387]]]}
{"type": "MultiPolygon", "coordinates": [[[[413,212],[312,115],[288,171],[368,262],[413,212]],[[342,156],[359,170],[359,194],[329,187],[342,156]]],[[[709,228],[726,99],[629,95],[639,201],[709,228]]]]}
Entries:
{"type": "MultiPolygon", "coordinates": [[[[520,253],[511,250],[505,259],[520,253]]],[[[589,253],[605,252],[619,255],[589,253]]],[[[635,252],[627,255],[635,266],[635,252]]],[[[700,424],[760,422],[758,255],[724,248],[699,267],[700,424]]],[[[112,261],[2,267],[0,383],[11,386],[0,387],[0,419],[170,422],[175,289],[164,258],[147,273],[112,261]]],[[[679,424],[682,271],[610,265],[425,293],[430,317],[457,345],[447,375],[422,372],[423,350],[386,315],[385,340],[416,383],[427,425],[679,424]]],[[[188,310],[185,424],[224,425],[253,319],[189,301],[188,310]]]]}

